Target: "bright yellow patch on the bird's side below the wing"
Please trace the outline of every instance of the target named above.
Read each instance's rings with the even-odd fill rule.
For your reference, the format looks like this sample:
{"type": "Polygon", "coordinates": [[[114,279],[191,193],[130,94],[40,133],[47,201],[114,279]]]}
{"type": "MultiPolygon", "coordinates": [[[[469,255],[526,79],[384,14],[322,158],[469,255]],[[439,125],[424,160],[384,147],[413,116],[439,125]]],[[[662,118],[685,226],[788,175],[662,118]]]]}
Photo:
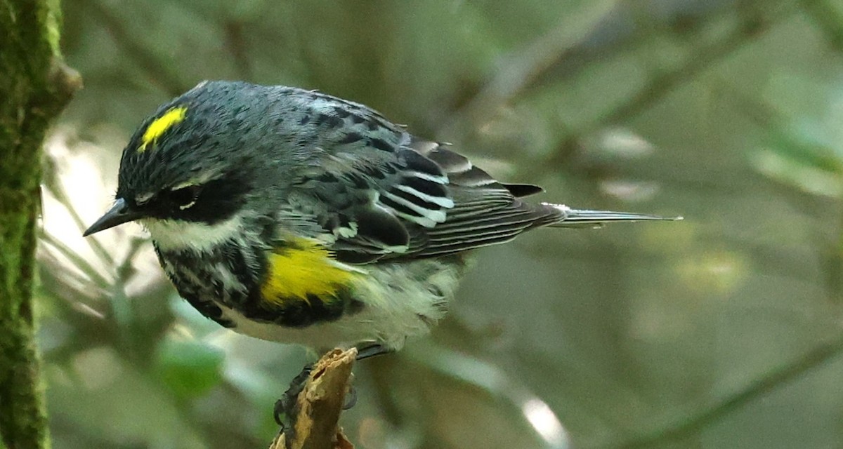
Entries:
{"type": "Polygon", "coordinates": [[[271,304],[291,298],[308,301],[308,295],[335,296],[356,275],[331,259],[328,249],[308,239],[278,249],[269,255],[268,263],[260,295],[271,304]]]}

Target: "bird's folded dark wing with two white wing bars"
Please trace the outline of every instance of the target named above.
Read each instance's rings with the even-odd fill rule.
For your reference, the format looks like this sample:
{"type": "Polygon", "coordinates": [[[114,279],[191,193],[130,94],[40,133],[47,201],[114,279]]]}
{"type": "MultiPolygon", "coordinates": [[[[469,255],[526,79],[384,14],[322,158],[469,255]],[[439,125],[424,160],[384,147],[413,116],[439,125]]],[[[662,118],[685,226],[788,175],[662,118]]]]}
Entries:
{"type": "Polygon", "coordinates": [[[342,261],[452,254],[561,219],[553,207],[518,199],[540,188],[498,183],[443,144],[403,131],[350,140],[337,140],[346,147],[325,151],[294,188],[310,197],[297,201],[311,205],[342,261]]]}

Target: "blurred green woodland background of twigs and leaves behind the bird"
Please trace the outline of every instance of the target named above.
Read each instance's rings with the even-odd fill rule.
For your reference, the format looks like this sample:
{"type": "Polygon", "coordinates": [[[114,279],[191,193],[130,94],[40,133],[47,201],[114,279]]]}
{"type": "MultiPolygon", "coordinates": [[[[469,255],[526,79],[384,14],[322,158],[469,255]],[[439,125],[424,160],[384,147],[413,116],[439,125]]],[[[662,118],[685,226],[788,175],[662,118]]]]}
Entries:
{"type": "Polygon", "coordinates": [[[477,253],[429,339],[358,364],[362,448],[843,446],[843,1],[64,0],[85,88],[47,144],[54,446],[267,446],[309,355],[180,300],[142,229],[83,239],[120,152],[203,79],[317,88],[540,200],[684,222],[477,253]]]}

